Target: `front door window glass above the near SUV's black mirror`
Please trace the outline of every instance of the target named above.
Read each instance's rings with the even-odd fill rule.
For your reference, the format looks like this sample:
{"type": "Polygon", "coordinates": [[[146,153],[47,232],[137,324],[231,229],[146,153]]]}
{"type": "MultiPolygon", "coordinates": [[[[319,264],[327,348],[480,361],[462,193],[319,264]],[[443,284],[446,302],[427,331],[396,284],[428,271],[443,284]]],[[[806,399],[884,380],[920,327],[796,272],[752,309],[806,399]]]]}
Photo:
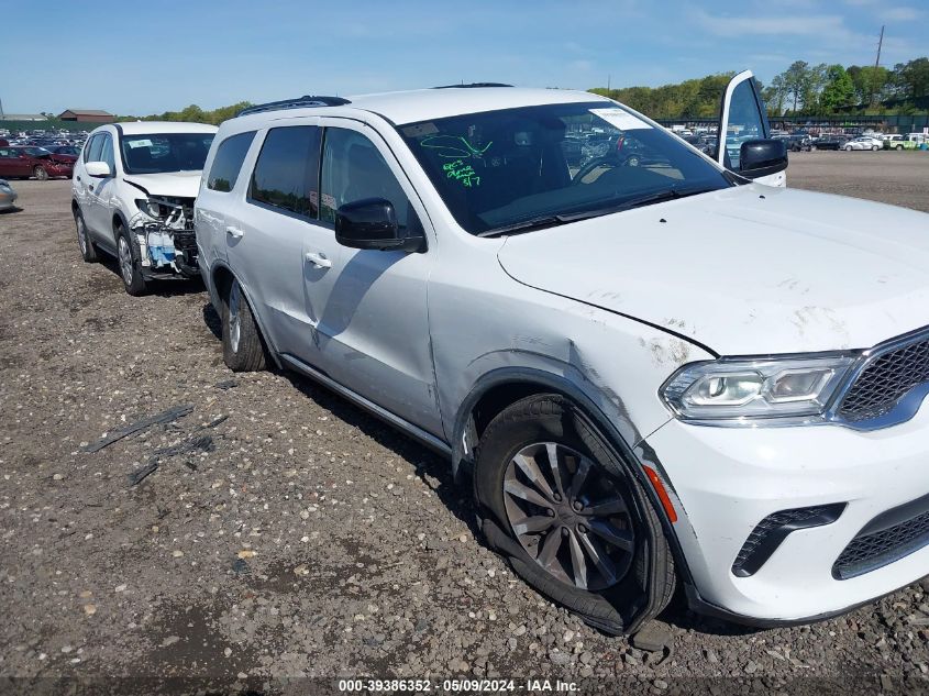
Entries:
{"type": "Polygon", "coordinates": [[[374,143],[355,131],[325,129],[320,217],[327,222],[335,222],[335,211],[340,206],[366,198],[389,200],[397,214],[398,227],[407,227],[409,200],[374,143]]]}

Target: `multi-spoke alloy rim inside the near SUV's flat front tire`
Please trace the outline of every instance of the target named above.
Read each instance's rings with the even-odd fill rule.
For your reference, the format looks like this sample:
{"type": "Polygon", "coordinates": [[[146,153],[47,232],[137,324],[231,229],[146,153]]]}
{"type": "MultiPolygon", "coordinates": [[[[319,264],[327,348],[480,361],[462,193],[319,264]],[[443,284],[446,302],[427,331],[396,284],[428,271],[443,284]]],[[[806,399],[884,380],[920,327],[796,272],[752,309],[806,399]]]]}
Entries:
{"type": "Polygon", "coordinates": [[[591,459],[556,442],[522,448],[507,464],[504,502],[519,543],[557,579],[596,592],[629,570],[635,550],[629,506],[591,459]]]}

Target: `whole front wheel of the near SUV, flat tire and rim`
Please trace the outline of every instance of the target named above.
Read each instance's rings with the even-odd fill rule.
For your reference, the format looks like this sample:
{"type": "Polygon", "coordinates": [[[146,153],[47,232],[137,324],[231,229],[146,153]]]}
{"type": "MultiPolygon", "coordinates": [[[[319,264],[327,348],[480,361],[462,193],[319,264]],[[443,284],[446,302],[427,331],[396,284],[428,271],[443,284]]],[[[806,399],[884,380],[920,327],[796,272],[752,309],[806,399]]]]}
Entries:
{"type": "Polygon", "coordinates": [[[516,573],[588,623],[626,633],[671,600],[674,562],[644,489],[564,397],[499,413],[474,487],[488,539],[516,573]],[[497,533],[506,539],[495,543],[497,533]]]}

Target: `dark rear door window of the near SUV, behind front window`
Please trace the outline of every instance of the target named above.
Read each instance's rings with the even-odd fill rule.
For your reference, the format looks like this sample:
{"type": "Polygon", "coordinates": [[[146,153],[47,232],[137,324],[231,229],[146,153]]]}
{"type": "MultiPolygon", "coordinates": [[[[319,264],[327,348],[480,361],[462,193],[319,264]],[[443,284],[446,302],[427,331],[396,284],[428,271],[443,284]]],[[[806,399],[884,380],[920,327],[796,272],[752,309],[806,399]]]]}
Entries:
{"type": "Polygon", "coordinates": [[[316,125],[268,131],[252,175],[250,200],[317,218],[319,145],[320,129],[316,125]]]}

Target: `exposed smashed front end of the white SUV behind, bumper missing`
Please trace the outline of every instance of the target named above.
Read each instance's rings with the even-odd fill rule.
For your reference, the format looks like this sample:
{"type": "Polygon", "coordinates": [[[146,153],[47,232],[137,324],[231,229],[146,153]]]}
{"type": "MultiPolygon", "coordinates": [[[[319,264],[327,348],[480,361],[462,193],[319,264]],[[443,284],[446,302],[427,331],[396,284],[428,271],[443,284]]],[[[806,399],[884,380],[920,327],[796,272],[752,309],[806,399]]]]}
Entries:
{"type": "Polygon", "coordinates": [[[143,272],[196,276],[197,237],[193,233],[193,199],[150,196],[137,199],[140,211],[130,220],[143,272]]]}

